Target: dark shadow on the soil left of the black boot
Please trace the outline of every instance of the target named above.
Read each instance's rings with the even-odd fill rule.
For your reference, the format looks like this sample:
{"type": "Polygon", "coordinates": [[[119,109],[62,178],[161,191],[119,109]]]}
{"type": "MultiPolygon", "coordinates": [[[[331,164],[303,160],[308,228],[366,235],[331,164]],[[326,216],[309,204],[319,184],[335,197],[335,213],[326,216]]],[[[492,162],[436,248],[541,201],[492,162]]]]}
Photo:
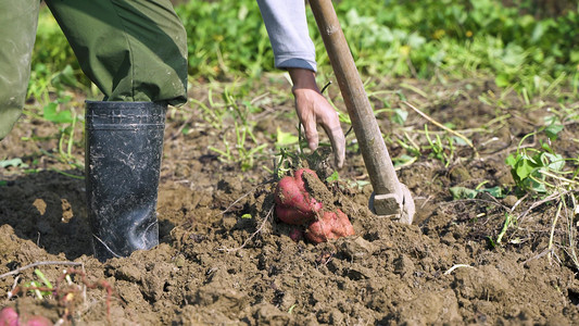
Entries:
{"type": "MultiPolygon", "coordinates": [[[[0,226],[51,254],[75,260],[92,254],[86,212],[85,180],[78,170],[28,174],[0,187],[0,226]]],[[[173,229],[160,221],[161,239],[173,229]]]]}

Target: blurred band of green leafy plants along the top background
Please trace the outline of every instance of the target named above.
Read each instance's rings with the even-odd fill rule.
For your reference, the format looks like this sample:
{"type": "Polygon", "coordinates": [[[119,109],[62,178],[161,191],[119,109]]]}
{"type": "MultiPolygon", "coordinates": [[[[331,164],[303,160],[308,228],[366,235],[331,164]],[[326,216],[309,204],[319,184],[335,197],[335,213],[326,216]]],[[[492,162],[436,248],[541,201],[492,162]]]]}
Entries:
{"type": "MultiPolygon", "coordinates": [[[[578,92],[577,8],[540,17],[525,13],[533,11],[530,0],[513,7],[500,0],[358,4],[344,0],[336,10],[363,75],[462,78],[482,73],[494,76],[500,87],[514,87],[529,98],[557,92],[563,86],[578,92]]],[[[192,79],[257,76],[275,70],[255,1],[191,0],[175,10],[188,33],[192,79]]],[[[323,75],[329,72],[329,60],[311,11],[307,17],[323,75]]],[[[46,98],[59,85],[90,88],[58,24],[42,9],[29,93],[46,98]]]]}

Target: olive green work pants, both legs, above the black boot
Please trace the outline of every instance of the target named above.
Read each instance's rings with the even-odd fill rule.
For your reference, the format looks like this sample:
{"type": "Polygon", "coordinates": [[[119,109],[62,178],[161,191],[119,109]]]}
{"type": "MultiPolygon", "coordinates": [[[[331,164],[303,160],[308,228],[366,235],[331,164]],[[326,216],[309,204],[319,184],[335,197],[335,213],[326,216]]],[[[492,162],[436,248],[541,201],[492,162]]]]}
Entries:
{"type": "MultiPolygon", "coordinates": [[[[105,101],[187,100],[187,36],[168,0],[46,0],[105,101]]],[[[0,0],[0,139],[26,98],[39,0],[0,0]]]]}

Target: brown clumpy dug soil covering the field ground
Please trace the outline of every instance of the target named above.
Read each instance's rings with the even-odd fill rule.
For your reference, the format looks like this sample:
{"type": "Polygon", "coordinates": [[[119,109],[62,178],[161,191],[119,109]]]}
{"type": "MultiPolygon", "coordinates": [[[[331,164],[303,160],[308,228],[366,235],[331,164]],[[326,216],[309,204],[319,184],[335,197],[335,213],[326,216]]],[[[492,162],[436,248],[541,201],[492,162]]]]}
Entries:
{"type": "MultiPolygon", "coordinates": [[[[489,240],[496,239],[517,201],[508,192],[514,181],[504,159],[524,135],[542,125],[556,103],[544,100],[529,109],[511,95],[502,100],[507,104],[491,105],[478,100],[496,93],[486,82],[404,80],[428,95],[400,88],[405,97],[421,103],[435,120],[453,123],[480,156],[467,146],[456,146],[445,166],[423,150],[420,158],[402,167],[400,179],[417,208],[414,225],[406,226],[368,211],[372,187],[354,138],[348,136],[347,167],[339,181],[327,186],[331,204],[350,216],[356,235],[314,246],[293,242],[290,227],[276,221],[275,181],[262,167],[274,168],[277,127],[295,130],[292,101],[279,79],[275,75],[256,82],[256,90],[270,91],[266,97],[238,99],[240,104],[254,99],[253,105],[262,109],[250,123],[259,143],[268,145],[268,159],[256,158],[255,166],[246,172],[207,149],[225,149],[224,133],[235,143],[232,118],[226,116],[223,128],[212,127],[215,121],[191,103],[167,113],[158,209],[162,243],[105,263],[91,256],[85,185],[78,178],[83,171],[58,160],[58,126],[23,117],[0,142],[1,160],[21,158],[28,164],[0,168],[0,274],[36,262],[83,265],[74,267],[73,285],[61,281],[54,296],[42,300],[32,292],[7,297],[37,279],[34,268],[2,277],[0,308],[14,306],[21,314],[43,315],[53,323],[64,317],[77,325],[579,323],[579,280],[568,255],[577,244],[566,240],[565,223],[555,227],[553,255],[545,254],[555,202],[527,212],[537,200],[524,200],[512,214],[527,214],[508,229],[502,244],[493,247],[489,240]],[[487,124],[493,118],[498,120],[487,124]],[[486,187],[503,187],[508,196],[453,200],[449,191],[453,186],[474,189],[483,181],[486,187]]],[[[377,80],[374,86],[389,93],[391,108],[403,108],[399,82],[377,80]]],[[[207,103],[207,87],[193,89],[191,96],[207,103]]],[[[342,108],[337,89],[330,89],[330,97],[342,108]]],[[[81,108],[81,97],[77,101],[81,108]]],[[[387,102],[373,101],[377,109],[387,102]]],[[[381,113],[378,120],[392,158],[407,153],[397,139],[427,145],[424,118],[410,111],[401,127],[390,122],[390,114],[381,113]]],[[[440,131],[432,125],[429,130],[440,131]]],[[[570,123],[559,138],[564,140],[553,147],[574,158],[578,148],[572,139],[578,138],[577,122],[570,123]]],[[[247,143],[249,148],[249,137],[247,143]]],[[[81,149],[75,158],[83,161],[81,149]]],[[[325,179],[331,174],[329,161],[311,160],[307,165],[325,179]]],[[[71,271],[64,264],[38,268],[53,284],[64,268],[71,271]]]]}

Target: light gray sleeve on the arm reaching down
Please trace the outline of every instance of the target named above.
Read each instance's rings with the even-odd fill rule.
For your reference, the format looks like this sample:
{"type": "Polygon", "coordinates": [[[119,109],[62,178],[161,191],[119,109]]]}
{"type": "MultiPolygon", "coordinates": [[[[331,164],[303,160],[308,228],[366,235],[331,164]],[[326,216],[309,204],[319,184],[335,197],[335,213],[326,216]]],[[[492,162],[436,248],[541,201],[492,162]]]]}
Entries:
{"type": "Polygon", "coordinates": [[[314,42],[307,33],[304,0],[257,0],[278,68],[316,71],[314,42]]]}

